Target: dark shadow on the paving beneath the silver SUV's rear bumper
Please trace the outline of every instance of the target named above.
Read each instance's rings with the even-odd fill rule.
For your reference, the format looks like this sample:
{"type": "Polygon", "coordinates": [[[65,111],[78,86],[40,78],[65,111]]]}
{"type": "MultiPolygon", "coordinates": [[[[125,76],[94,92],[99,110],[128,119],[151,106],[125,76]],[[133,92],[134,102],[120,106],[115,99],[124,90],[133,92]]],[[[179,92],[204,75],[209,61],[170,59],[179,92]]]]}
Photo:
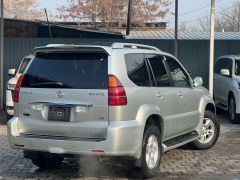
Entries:
{"type": "Polygon", "coordinates": [[[65,158],[59,168],[52,170],[36,169],[36,174],[54,174],[57,178],[98,178],[98,179],[143,179],[141,173],[133,168],[127,161],[117,162],[115,160],[81,157],[65,158]]]}

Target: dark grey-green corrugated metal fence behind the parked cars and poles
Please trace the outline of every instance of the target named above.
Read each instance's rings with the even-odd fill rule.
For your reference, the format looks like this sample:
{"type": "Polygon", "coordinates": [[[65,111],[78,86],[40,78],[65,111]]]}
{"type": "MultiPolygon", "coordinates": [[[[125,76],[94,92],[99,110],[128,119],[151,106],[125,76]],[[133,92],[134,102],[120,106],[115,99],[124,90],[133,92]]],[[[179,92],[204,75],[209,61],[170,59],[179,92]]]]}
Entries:
{"type": "MultiPolygon", "coordinates": [[[[81,44],[94,42],[131,42],[153,45],[163,51],[173,53],[173,40],[160,39],[48,39],[48,38],[5,38],[4,49],[4,84],[8,79],[7,70],[17,68],[21,58],[32,52],[34,47],[44,46],[52,43],[81,44]]],[[[239,54],[239,40],[216,40],[215,58],[225,54],[239,54]]],[[[208,84],[208,61],[209,41],[208,40],[179,40],[179,60],[192,72],[194,76],[199,75],[208,84]]]]}

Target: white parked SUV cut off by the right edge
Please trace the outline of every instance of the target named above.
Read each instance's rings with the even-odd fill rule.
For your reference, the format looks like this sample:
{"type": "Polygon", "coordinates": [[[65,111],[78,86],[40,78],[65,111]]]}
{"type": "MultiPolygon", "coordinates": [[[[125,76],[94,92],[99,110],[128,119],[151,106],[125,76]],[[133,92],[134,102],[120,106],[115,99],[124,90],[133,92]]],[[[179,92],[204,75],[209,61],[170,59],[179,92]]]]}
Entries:
{"type": "Polygon", "coordinates": [[[214,99],[219,108],[228,111],[232,123],[240,122],[239,89],[240,56],[219,57],[214,69],[214,99]]]}

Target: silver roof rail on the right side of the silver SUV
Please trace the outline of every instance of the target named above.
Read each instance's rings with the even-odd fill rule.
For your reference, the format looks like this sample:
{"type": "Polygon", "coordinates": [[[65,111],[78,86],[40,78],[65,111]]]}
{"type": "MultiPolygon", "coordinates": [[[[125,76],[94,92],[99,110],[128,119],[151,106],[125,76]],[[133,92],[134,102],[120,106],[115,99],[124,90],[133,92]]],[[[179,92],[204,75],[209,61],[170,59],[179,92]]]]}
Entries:
{"type": "Polygon", "coordinates": [[[111,47],[113,49],[132,48],[132,49],[147,49],[147,50],[161,51],[160,49],[158,49],[154,46],[148,46],[148,45],[143,45],[143,44],[134,44],[134,43],[113,43],[111,47]]]}

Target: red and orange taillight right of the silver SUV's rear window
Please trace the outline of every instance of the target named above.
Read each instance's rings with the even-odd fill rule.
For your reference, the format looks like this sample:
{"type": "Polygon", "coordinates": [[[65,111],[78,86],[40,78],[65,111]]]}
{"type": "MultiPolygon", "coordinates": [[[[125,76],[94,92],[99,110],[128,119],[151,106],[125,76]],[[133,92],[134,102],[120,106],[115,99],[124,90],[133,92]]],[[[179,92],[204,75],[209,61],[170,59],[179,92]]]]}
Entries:
{"type": "Polygon", "coordinates": [[[108,76],[108,105],[124,106],[127,105],[127,96],[121,82],[114,75],[108,76]]]}

